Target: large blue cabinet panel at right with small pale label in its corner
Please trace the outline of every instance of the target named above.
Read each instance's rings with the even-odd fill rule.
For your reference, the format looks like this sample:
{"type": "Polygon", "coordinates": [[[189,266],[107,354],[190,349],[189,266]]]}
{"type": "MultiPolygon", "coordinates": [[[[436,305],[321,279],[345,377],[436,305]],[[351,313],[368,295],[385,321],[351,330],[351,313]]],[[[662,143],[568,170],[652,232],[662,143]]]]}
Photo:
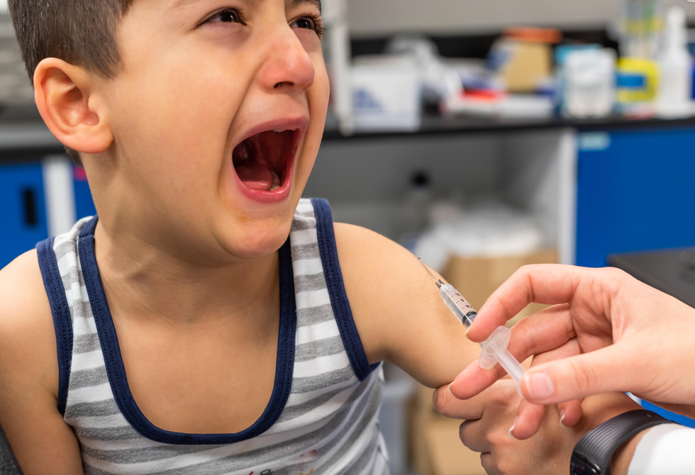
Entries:
{"type": "Polygon", "coordinates": [[[695,129],[579,134],[577,264],[695,245],[695,129]]]}

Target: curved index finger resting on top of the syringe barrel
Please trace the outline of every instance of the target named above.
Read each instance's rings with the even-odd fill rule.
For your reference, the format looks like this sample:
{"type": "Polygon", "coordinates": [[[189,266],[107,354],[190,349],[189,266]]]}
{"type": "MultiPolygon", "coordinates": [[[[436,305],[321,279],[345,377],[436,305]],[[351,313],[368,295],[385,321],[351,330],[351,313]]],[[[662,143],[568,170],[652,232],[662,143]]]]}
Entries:
{"type": "MultiPolygon", "coordinates": [[[[599,269],[591,269],[597,272],[599,269]]],[[[489,296],[472,323],[468,338],[482,342],[529,303],[569,303],[582,276],[589,269],[562,264],[531,264],[520,267],[489,296]]]]}

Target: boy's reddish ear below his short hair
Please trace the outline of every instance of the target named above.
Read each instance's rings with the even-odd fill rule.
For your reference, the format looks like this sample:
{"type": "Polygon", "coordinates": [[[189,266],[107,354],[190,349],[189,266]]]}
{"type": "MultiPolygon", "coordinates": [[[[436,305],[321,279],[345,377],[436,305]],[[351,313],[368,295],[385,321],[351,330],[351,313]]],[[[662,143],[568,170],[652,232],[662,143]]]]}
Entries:
{"type": "Polygon", "coordinates": [[[113,142],[104,101],[82,67],[55,57],[34,72],[34,97],[43,121],[60,143],[78,152],[101,153],[113,142]]]}

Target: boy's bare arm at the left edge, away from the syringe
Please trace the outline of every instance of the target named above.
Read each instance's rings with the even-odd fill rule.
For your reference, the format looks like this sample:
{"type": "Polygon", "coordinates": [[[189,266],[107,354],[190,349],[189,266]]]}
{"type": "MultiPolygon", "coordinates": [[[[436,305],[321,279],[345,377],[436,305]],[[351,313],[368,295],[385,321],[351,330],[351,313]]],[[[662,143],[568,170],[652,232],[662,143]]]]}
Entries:
{"type": "Polygon", "coordinates": [[[0,424],[25,475],[82,474],[57,409],[55,330],[35,251],[0,270],[0,424]]]}

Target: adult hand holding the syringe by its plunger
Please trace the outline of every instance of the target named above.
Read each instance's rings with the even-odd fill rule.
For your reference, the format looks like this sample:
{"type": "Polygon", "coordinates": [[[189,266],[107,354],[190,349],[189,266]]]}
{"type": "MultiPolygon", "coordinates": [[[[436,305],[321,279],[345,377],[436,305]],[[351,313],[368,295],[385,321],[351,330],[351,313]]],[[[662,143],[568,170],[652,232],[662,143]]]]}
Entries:
{"type": "MultiPolygon", "coordinates": [[[[528,401],[550,404],[608,391],[695,415],[695,309],[618,269],[558,264],[522,267],[488,298],[468,337],[482,342],[530,302],[561,304],[524,318],[510,351],[526,359],[576,338],[574,356],[539,364],[523,376],[528,401]]],[[[471,398],[504,370],[469,365],[450,385],[471,398]]]]}

